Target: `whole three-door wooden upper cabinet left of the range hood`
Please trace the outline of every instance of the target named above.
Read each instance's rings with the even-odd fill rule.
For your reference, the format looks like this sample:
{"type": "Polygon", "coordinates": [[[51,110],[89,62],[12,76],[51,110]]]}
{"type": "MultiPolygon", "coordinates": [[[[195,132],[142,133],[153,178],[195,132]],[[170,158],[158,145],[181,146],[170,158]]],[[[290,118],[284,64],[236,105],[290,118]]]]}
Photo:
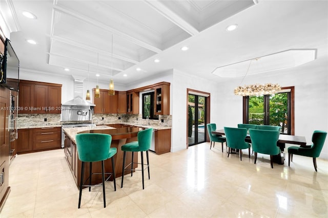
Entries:
{"type": "Polygon", "coordinates": [[[61,84],[19,81],[20,114],[60,114],[61,84]]]}

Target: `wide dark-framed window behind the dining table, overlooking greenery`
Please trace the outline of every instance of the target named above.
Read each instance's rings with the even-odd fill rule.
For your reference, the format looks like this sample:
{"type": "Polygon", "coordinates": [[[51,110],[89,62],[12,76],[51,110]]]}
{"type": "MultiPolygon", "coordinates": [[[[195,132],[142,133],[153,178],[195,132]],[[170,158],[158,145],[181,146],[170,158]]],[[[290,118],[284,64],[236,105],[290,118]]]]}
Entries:
{"type": "Polygon", "coordinates": [[[281,126],[294,135],[294,86],[274,95],[243,97],[243,123],[281,126]]]}

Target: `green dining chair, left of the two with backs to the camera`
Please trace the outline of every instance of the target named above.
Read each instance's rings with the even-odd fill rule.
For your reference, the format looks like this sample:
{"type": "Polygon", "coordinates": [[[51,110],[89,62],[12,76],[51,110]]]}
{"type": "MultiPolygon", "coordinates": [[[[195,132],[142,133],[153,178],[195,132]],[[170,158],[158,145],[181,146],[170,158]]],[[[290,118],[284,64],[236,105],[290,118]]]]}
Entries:
{"type": "Polygon", "coordinates": [[[251,158],[251,145],[245,142],[247,128],[224,127],[224,133],[226,134],[227,146],[229,148],[228,158],[231,148],[239,149],[240,161],[242,156],[241,149],[248,148],[248,157],[251,158]]]}

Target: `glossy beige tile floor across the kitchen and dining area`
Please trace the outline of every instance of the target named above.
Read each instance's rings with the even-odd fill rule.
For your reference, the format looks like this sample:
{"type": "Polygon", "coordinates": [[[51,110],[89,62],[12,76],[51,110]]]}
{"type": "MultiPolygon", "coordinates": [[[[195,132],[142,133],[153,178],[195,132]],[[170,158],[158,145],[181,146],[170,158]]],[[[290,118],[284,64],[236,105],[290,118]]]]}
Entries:
{"type": "MultiPolygon", "coordinates": [[[[294,156],[288,167],[269,157],[227,158],[209,143],[174,153],[150,154],[151,179],[142,190],[141,172],[117,191],[106,183],[78,189],[61,149],[18,155],[10,165],[11,192],[0,217],[328,217],[328,161],[294,156]],[[100,190],[100,191],[99,191],[100,190]]],[[[244,151],[247,154],[247,151],[244,151]]]]}

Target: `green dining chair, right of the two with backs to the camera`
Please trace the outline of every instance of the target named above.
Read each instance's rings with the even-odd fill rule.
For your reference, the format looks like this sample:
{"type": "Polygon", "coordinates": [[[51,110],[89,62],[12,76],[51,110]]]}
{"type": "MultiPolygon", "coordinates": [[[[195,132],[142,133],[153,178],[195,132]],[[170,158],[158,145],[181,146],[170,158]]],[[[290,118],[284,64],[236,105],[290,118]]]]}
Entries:
{"type": "Polygon", "coordinates": [[[249,129],[252,148],[254,150],[254,164],[256,164],[257,153],[270,155],[271,168],[273,168],[273,156],[280,154],[277,146],[280,132],[278,130],[249,129]]]}

